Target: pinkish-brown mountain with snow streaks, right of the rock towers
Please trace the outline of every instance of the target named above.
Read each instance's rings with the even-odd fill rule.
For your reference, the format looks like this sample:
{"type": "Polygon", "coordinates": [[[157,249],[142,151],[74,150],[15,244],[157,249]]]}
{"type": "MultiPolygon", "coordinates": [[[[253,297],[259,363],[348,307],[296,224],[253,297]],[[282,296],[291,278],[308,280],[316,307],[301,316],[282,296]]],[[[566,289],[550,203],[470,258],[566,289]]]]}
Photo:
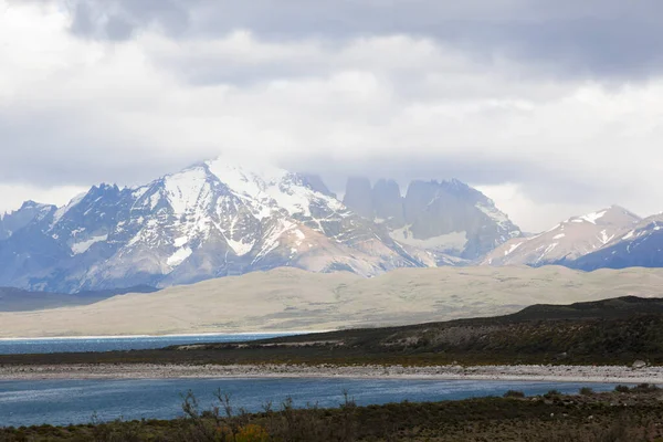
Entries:
{"type": "Polygon", "coordinates": [[[482,264],[567,265],[619,240],[640,221],[636,214],[612,206],[570,218],[537,235],[511,240],[486,254],[482,264]]]}

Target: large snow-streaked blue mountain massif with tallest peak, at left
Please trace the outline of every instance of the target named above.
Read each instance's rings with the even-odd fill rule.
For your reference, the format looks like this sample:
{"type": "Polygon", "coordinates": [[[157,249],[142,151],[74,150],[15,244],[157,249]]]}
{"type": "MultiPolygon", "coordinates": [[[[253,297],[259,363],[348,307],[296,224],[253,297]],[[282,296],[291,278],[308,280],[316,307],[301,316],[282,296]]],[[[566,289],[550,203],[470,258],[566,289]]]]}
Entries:
{"type": "Polygon", "coordinates": [[[1,225],[0,285],[169,286],[277,266],[375,275],[435,265],[348,210],[315,177],[220,158],[138,188],[27,203],[1,225]]]}

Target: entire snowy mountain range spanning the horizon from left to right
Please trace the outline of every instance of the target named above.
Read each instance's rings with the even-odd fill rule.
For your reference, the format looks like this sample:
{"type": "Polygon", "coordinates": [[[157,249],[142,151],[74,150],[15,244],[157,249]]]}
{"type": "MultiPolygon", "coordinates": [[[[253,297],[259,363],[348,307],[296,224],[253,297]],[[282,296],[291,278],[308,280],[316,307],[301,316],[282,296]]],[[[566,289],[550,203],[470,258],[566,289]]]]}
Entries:
{"type": "Polygon", "coordinates": [[[494,202],[449,181],[348,179],[225,157],[144,186],[99,185],[64,207],[0,217],[0,286],[80,293],[164,288],[291,266],[375,276],[399,267],[663,266],[663,215],[613,206],[527,236],[494,202]]]}

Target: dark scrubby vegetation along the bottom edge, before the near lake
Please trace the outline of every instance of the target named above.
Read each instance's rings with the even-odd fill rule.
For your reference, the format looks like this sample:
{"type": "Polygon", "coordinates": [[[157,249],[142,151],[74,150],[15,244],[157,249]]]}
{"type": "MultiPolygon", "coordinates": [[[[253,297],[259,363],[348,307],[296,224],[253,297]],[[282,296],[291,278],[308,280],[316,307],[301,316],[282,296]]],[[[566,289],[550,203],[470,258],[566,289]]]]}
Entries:
{"type": "Polygon", "coordinates": [[[663,392],[652,386],[610,393],[583,388],[578,396],[550,391],[525,398],[357,407],[346,394],[336,409],[286,400],[261,413],[234,410],[217,393],[218,407],[201,411],[187,396],[182,418],[171,421],[92,422],[86,425],[0,429],[0,441],[663,441],[663,392]]]}

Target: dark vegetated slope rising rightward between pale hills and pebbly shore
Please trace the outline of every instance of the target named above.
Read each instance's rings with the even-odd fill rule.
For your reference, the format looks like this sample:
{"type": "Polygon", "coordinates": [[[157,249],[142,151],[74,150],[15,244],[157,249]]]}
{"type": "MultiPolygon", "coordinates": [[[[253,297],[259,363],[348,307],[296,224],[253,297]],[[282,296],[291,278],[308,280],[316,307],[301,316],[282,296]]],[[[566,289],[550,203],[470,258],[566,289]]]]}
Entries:
{"type": "Polygon", "coordinates": [[[105,354],[8,355],[30,364],[663,364],[663,299],[535,305],[513,315],[240,344],[105,354]]]}

